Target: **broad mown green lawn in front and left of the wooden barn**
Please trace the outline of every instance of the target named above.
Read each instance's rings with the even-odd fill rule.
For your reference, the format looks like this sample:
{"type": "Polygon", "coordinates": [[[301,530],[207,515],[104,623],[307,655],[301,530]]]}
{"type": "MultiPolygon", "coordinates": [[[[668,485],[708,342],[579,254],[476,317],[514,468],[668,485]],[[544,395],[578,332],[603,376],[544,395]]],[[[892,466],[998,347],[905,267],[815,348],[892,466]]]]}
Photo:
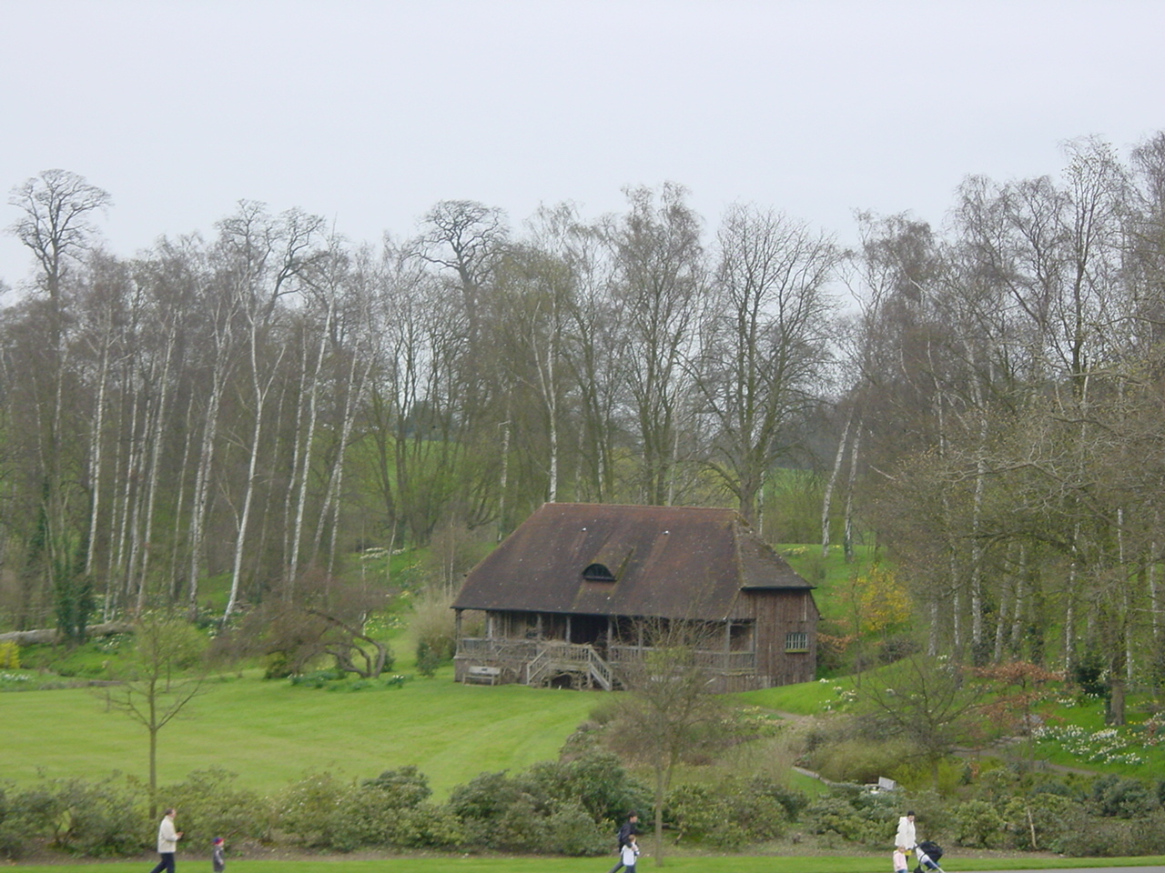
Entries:
{"type": "MultiPolygon", "coordinates": [[[[224,677],[162,730],[158,781],[219,766],[238,773],[240,785],[270,792],[311,771],[370,778],[411,764],[443,799],[478,773],[557,758],[598,701],[516,684],[463,686],[449,667],[398,689],[351,693],[224,677]]],[[[94,690],[0,694],[0,724],[6,780],[147,775],[146,730],[106,710],[94,690]]]]}

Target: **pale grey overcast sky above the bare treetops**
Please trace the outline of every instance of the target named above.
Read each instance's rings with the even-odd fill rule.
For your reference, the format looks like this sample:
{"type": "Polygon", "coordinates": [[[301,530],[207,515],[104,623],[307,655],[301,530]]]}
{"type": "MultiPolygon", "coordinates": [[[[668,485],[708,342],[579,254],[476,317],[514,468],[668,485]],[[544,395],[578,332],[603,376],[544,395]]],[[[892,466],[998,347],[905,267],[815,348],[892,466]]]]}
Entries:
{"type": "MultiPolygon", "coordinates": [[[[1065,140],[1127,155],[1165,128],[1163,34],[1162,0],[0,0],[0,186],[84,176],[122,256],[240,199],[375,242],[664,180],[712,226],[747,200],[850,241],[1065,140]]],[[[0,239],[0,279],[29,265],[0,239]]]]}

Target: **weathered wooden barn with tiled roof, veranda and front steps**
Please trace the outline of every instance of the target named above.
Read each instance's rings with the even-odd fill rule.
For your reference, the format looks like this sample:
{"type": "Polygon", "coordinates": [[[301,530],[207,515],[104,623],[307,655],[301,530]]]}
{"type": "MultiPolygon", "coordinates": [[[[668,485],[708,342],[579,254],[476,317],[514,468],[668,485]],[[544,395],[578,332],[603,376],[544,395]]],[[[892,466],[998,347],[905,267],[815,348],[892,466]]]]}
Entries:
{"type": "Polygon", "coordinates": [[[727,509],[548,503],[466,576],[457,681],[605,688],[641,658],[644,626],[700,625],[718,691],[805,682],[812,585],[727,509]],[[463,633],[465,610],[483,636],[463,633]]]}

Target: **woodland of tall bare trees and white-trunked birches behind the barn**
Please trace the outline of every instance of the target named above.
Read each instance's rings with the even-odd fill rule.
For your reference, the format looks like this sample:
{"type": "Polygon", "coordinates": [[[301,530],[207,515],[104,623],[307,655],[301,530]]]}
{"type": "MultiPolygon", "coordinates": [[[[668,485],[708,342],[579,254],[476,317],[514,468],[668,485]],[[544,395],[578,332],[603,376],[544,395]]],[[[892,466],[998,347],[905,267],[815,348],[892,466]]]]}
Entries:
{"type": "Polygon", "coordinates": [[[852,250],[666,184],[520,227],[443,201],[377,244],[240,203],[127,256],[110,194],[45,171],[9,199],[0,620],[197,613],[223,574],[228,618],[546,501],[733,505],[891,551],[930,651],[1099,659],[1118,701],[1165,663],[1165,134],[1066,161],[852,250]]]}

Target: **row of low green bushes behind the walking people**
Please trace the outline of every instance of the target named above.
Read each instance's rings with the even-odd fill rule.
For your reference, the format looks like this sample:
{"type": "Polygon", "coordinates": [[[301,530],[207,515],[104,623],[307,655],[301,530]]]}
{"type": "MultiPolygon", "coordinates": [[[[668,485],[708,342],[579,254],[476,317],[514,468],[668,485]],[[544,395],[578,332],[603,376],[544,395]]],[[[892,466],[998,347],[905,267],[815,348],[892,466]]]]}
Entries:
{"type": "MultiPolygon", "coordinates": [[[[721,776],[677,785],[664,809],[669,839],[715,851],[790,836],[819,847],[883,851],[897,818],[918,810],[918,833],[960,847],[1052,851],[1066,856],[1165,853],[1165,782],[1062,778],[995,766],[968,779],[958,796],[871,792],[833,785],[809,799],[767,776],[721,776]]],[[[41,780],[0,785],[0,857],[47,845],[75,856],[148,851],[156,822],[140,783],[41,780]]],[[[320,851],[501,851],[598,856],[612,851],[616,825],[651,808],[650,790],[609,752],[537,764],[521,773],[482,773],[433,803],[424,774],[401,767],[366,780],[312,773],[275,796],[239,788],[220,768],[191,773],[161,789],[176,805],[185,846],[213,837],[233,846],[292,843],[320,851]]],[[[647,815],[645,815],[647,817],[647,815]]],[[[191,850],[193,851],[193,850],[191,850]]]]}

